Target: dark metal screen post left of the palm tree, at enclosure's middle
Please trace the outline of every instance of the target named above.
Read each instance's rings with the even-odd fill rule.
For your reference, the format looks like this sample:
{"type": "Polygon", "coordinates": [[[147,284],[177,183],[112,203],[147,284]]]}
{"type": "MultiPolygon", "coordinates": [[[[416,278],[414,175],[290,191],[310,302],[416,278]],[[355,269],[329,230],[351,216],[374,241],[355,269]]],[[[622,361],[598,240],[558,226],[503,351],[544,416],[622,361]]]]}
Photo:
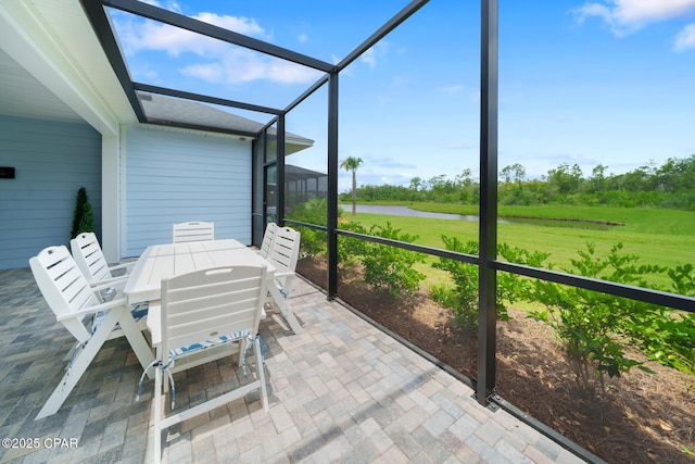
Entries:
{"type": "Polygon", "coordinates": [[[328,77],[328,299],[338,294],[338,71],[328,77]]]}

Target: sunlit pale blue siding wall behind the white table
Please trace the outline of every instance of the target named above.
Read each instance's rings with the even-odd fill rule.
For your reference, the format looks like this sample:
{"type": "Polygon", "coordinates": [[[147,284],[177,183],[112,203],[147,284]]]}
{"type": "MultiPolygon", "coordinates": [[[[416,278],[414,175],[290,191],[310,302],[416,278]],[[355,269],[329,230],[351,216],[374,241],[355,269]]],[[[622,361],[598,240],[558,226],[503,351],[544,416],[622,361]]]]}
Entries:
{"type": "Polygon", "coordinates": [[[125,148],[124,256],[172,241],[172,226],[215,223],[215,238],[251,243],[251,140],[129,126],[125,148]]]}

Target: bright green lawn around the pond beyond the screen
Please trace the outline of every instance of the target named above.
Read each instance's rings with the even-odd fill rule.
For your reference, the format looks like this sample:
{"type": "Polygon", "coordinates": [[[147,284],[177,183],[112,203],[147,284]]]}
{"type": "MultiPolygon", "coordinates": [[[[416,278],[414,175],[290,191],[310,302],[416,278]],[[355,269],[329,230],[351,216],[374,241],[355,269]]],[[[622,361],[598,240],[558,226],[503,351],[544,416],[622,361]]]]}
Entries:
{"type": "MultiPolygon", "coordinates": [[[[418,203],[410,206],[432,212],[477,213],[473,206],[455,204],[418,203]]],[[[571,266],[570,260],[578,258],[578,251],[586,249],[586,242],[594,243],[599,255],[605,255],[614,244],[621,242],[623,253],[640,256],[639,264],[675,267],[679,264],[695,263],[694,212],[586,206],[502,206],[500,215],[580,218],[626,224],[608,230],[500,224],[498,242],[506,242],[509,246],[529,251],[551,253],[546,263],[552,263],[554,268],[558,271],[569,268],[571,266]]],[[[444,248],[442,235],[458,237],[462,241],[478,240],[478,223],[476,222],[364,213],[358,213],[353,217],[350,215],[349,209],[345,210],[342,217],[344,221],[356,221],[364,225],[383,226],[390,222],[393,227],[400,228],[403,233],[417,235],[417,243],[429,247],[444,248]]],[[[427,261],[431,263],[434,259],[429,258],[427,261]]],[[[438,281],[439,278],[434,274],[430,276],[428,281],[438,281]]],[[[656,276],[652,284],[655,287],[669,289],[670,279],[666,275],[656,276]]]]}

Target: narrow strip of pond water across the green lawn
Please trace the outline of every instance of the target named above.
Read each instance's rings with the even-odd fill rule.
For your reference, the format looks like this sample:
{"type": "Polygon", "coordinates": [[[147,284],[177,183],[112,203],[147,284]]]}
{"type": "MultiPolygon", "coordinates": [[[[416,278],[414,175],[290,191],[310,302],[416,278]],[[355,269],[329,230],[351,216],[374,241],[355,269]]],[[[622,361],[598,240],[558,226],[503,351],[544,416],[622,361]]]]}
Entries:
{"type": "MultiPolygon", "coordinates": [[[[352,211],[352,204],[339,204],[345,213],[350,214],[352,211]]],[[[357,204],[357,213],[367,214],[384,214],[389,216],[410,216],[410,217],[430,217],[434,220],[451,220],[451,221],[468,221],[478,222],[479,216],[473,214],[450,214],[450,213],[430,213],[428,211],[412,210],[408,206],[402,205],[383,205],[383,204],[357,204]]],[[[552,220],[552,218],[533,218],[533,217],[519,217],[519,218],[500,218],[498,224],[517,224],[528,226],[544,226],[544,227],[569,227],[578,229],[592,229],[592,230],[608,230],[612,226],[607,224],[592,223],[590,221],[571,221],[571,220],[552,220]]]]}

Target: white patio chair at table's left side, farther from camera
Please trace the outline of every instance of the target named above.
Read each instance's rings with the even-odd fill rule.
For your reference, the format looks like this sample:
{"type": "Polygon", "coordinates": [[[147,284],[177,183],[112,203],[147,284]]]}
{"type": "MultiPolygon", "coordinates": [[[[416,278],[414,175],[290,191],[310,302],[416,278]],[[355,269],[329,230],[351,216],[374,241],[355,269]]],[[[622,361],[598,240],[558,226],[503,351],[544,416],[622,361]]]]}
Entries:
{"type": "Polygon", "coordinates": [[[79,234],[71,240],[70,249],[75,263],[77,263],[77,267],[79,267],[90,285],[110,285],[110,287],[101,292],[103,301],[113,298],[115,296],[115,289],[123,288],[127,275],[135,265],[135,261],[131,263],[109,265],[99,244],[99,240],[93,233],[79,234]],[[123,271],[124,273],[114,276],[113,272],[117,271],[123,271]]]}

